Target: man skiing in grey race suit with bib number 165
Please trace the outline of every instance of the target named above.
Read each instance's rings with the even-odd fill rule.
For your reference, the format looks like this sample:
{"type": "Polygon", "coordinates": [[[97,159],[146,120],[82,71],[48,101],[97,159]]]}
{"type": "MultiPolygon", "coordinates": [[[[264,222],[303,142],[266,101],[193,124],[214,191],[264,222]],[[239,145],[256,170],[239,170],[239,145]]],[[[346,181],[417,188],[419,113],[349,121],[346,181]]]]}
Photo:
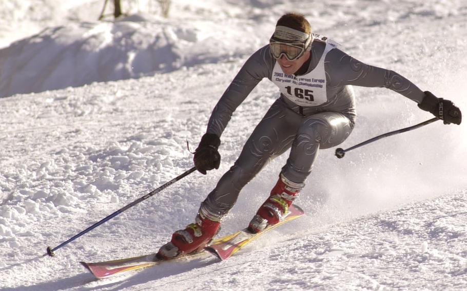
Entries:
{"type": "Polygon", "coordinates": [[[336,147],[351,134],[356,119],[353,85],[391,89],[445,124],[461,122],[461,112],[452,101],[421,91],[394,71],[362,63],[333,40],[313,34],[303,15],[287,13],[278,20],[269,44],[250,56],[213,109],[193,158],[202,174],[219,168],[222,132],[233,111],[263,78],[277,85],[280,97],[252,132],[237,161],[201,203],[196,221],[175,232],[160,248],[159,258],[201,251],[218,232],[243,186],[269,160],[290,149],[276,185],[248,229],[257,233],[281,221],[305,186],[318,150],[336,147]]]}

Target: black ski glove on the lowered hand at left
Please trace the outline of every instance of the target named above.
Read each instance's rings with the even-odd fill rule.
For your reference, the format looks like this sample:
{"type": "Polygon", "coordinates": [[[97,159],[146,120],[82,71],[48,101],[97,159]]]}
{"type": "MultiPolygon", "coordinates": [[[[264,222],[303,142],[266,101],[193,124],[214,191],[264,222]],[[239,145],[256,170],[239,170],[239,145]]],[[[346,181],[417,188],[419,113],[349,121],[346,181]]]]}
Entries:
{"type": "Polygon", "coordinates": [[[221,155],[218,148],[221,144],[219,136],[213,133],[206,133],[201,138],[198,148],[194,151],[194,167],[203,175],[206,171],[214,168],[219,169],[221,155]]]}

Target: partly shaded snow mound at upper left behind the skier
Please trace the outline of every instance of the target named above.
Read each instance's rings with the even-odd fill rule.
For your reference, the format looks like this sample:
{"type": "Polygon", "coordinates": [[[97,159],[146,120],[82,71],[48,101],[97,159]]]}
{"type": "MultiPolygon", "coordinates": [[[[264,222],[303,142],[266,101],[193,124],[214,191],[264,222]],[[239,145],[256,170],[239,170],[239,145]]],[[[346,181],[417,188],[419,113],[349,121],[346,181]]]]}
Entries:
{"type": "MultiPolygon", "coordinates": [[[[241,32],[131,15],[44,29],[0,50],[0,97],[139,78],[251,53],[241,32]]],[[[252,38],[249,41],[257,41],[252,38]]]]}

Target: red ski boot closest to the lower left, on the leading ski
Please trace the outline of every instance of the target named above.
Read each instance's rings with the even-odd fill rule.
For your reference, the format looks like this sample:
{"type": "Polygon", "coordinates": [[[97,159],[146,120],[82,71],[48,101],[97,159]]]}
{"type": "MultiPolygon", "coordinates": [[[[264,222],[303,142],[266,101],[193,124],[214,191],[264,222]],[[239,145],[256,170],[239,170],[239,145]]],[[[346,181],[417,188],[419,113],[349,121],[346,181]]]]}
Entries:
{"type": "Polygon", "coordinates": [[[157,253],[161,259],[173,259],[175,257],[200,252],[218,233],[219,221],[212,221],[198,213],[196,223],[189,224],[184,230],[176,231],[170,242],[164,244],[157,253]]]}

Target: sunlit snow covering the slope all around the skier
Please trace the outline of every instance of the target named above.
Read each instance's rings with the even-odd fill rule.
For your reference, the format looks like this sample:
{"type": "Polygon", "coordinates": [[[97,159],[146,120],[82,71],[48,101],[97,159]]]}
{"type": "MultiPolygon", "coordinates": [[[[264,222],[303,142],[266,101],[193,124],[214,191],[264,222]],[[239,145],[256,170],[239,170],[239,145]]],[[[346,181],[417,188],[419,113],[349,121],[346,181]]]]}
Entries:
{"type": "MultiPolygon", "coordinates": [[[[371,0],[0,0],[1,290],[463,290],[467,130],[438,121],[348,152],[320,153],[297,204],[306,216],[228,261],[205,257],[96,281],[79,261],[158,250],[199,203],[278,96],[264,80],[222,136],[221,167],[193,173],[56,251],[54,247],[192,167],[210,112],[278,17],[368,64],[467,108],[467,3],[371,0]],[[123,1],[125,3],[125,1],[123,1]],[[37,6],[41,4],[41,6],[37,6]],[[108,11],[110,12],[110,11],[108,11]]],[[[355,88],[342,145],[432,118],[381,88],[355,88]]],[[[286,155],[242,191],[220,235],[247,225],[286,155]]]]}

